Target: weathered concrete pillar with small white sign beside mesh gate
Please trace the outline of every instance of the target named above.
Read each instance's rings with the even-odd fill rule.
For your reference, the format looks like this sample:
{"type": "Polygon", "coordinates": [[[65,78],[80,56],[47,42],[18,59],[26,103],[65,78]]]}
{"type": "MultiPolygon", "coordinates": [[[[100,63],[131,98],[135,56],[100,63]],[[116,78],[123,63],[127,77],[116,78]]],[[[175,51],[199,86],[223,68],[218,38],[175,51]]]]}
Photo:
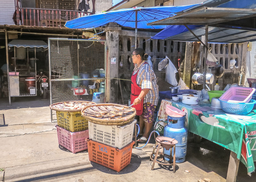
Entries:
{"type": "Polygon", "coordinates": [[[116,103],[118,98],[118,63],[119,63],[119,34],[121,27],[116,23],[109,23],[105,28],[106,47],[107,47],[107,86],[106,86],[106,102],[116,103]]]}

